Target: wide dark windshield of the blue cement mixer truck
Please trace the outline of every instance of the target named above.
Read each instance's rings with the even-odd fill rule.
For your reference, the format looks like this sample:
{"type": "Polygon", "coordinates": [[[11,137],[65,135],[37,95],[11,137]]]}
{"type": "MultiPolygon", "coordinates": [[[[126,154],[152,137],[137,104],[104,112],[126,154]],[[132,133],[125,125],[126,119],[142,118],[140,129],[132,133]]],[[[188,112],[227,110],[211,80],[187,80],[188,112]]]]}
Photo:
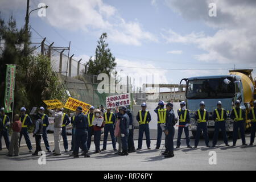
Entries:
{"type": "Polygon", "coordinates": [[[201,98],[232,98],[235,93],[233,78],[228,78],[231,82],[227,85],[224,78],[189,80],[186,89],[188,99],[201,98]]]}

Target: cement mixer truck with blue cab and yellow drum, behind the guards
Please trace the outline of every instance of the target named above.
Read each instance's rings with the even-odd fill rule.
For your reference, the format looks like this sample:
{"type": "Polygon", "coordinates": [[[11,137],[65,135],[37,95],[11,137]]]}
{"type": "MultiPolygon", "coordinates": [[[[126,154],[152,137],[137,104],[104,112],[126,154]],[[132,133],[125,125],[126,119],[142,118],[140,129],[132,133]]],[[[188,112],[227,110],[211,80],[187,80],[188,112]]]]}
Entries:
{"type": "MultiPolygon", "coordinates": [[[[241,107],[246,110],[246,113],[250,111],[253,101],[256,100],[256,80],[251,72],[253,69],[236,69],[230,70],[228,75],[191,77],[180,81],[180,85],[182,81],[186,82],[185,97],[191,116],[190,130],[194,136],[196,134],[195,111],[199,109],[201,101],[205,102],[205,109],[209,111],[207,122],[209,134],[214,131],[212,114],[218,101],[222,102],[222,106],[228,113],[236,100],[241,101],[241,107]]],[[[249,127],[250,120],[246,118],[246,129],[249,127]]],[[[230,117],[226,120],[226,130],[228,133],[233,131],[233,121],[230,117]]]]}

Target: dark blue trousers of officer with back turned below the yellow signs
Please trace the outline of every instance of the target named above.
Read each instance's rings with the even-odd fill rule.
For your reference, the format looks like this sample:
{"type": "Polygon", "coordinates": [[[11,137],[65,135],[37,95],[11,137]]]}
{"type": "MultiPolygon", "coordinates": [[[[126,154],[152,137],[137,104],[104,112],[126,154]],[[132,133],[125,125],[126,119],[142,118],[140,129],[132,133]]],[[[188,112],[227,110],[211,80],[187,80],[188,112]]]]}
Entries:
{"type": "Polygon", "coordinates": [[[87,135],[88,132],[86,131],[86,129],[76,129],[75,131],[75,138],[74,138],[74,154],[78,155],[79,154],[79,147],[81,146],[82,151],[84,152],[88,152],[88,148],[87,148],[87,135]]]}

